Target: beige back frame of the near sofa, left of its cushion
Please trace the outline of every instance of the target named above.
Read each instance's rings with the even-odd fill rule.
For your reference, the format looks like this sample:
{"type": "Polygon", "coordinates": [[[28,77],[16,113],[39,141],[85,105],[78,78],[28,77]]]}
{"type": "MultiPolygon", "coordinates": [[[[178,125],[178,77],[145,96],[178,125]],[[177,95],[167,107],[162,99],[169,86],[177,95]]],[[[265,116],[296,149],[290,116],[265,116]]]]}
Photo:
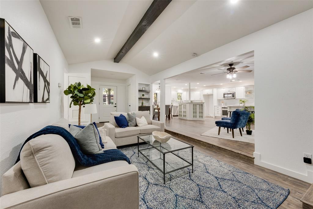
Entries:
{"type": "Polygon", "coordinates": [[[18,161],[2,176],[2,195],[28,189],[29,184],[18,161]]]}

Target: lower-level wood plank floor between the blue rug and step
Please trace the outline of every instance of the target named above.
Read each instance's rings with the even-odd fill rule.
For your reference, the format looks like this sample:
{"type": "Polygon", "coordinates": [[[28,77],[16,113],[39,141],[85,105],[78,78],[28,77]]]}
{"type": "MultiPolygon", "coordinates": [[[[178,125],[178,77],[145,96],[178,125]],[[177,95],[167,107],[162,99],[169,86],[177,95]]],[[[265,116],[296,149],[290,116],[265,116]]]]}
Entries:
{"type": "Polygon", "coordinates": [[[194,149],[198,150],[199,152],[207,154],[229,165],[233,165],[241,170],[249,172],[253,175],[256,175],[260,178],[263,178],[272,183],[280,185],[284,188],[288,188],[290,190],[290,194],[287,197],[287,199],[279,206],[279,208],[286,208],[286,209],[287,208],[288,209],[302,208],[302,202],[300,201],[300,199],[310,187],[309,183],[292,178],[290,176],[287,176],[281,173],[278,173],[273,170],[269,170],[267,168],[264,168],[258,165],[254,165],[253,163],[248,163],[244,160],[233,158],[229,154],[225,154],[223,152],[216,152],[212,149],[209,149],[206,146],[203,146],[203,144],[201,144],[201,142],[199,141],[193,140],[192,142],[192,141],[186,140],[184,137],[177,137],[177,136],[174,136],[174,137],[179,140],[185,141],[188,144],[192,144],[194,146],[194,149]]]}

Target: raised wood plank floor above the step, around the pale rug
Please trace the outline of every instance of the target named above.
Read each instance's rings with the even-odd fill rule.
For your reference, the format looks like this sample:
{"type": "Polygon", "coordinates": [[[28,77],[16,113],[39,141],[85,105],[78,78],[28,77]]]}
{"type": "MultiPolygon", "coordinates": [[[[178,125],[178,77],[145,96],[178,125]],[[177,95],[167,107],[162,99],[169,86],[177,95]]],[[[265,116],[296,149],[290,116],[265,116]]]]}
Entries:
{"type": "MultiPolygon", "coordinates": [[[[220,120],[220,118],[205,117],[204,121],[193,121],[173,117],[171,120],[166,120],[165,129],[182,134],[190,138],[195,138],[197,140],[212,144],[217,147],[221,147],[223,149],[228,149],[235,153],[248,156],[249,158],[253,158],[254,144],[200,135],[216,127],[215,125],[216,120],[220,120]]],[[[251,128],[254,129],[254,126],[252,125],[251,128]]],[[[226,131],[226,129],[225,130],[221,129],[221,131],[226,131]]]]}

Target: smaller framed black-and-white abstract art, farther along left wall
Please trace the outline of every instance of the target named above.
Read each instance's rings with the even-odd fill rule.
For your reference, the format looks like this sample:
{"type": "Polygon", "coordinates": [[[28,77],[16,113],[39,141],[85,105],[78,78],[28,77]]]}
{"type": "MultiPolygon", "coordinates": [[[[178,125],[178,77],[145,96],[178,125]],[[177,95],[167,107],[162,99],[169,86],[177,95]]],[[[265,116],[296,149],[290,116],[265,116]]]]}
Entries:
{"type": "Polygon", "coordinates": [[[50,66],[36,53],[34,60],[34,102],[50,102],[50,66]]]}

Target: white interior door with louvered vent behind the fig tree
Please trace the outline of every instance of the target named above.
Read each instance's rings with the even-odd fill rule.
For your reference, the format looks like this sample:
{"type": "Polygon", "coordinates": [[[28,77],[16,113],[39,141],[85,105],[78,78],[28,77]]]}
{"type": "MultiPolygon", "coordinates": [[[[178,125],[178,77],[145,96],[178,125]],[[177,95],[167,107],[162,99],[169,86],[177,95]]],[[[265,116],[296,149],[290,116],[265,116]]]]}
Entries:
{"type": "MultiPolygon", "coordinates": [[[[66,88],[71,85],[74,84],[76,82],[80,82],[81,84],[83,84],[84,86],[86,86],[87,84],[87,78],[85,77],[78,77],[78,76],[69,76],[69,80],[68,80],[68,85],[65,86],[66,88]]],[[[71,102],[71,95],[68,95],[68,102],[71,102]]],[[[68,104],[69,104],[68,103],[68,104]]],[[[68,106],[69,108],[69,106],[68,106]]],[[[72,107],[69,108],[69,121],[74,123],[74,124],[78,124],[78,109],[79,106],[74,106],[72,104],[72,107]]],[[[80,123],[86,123],[86,115],[84,114],[84,108],[81,108],[81,113],[80,113],[80,123]]]]}

